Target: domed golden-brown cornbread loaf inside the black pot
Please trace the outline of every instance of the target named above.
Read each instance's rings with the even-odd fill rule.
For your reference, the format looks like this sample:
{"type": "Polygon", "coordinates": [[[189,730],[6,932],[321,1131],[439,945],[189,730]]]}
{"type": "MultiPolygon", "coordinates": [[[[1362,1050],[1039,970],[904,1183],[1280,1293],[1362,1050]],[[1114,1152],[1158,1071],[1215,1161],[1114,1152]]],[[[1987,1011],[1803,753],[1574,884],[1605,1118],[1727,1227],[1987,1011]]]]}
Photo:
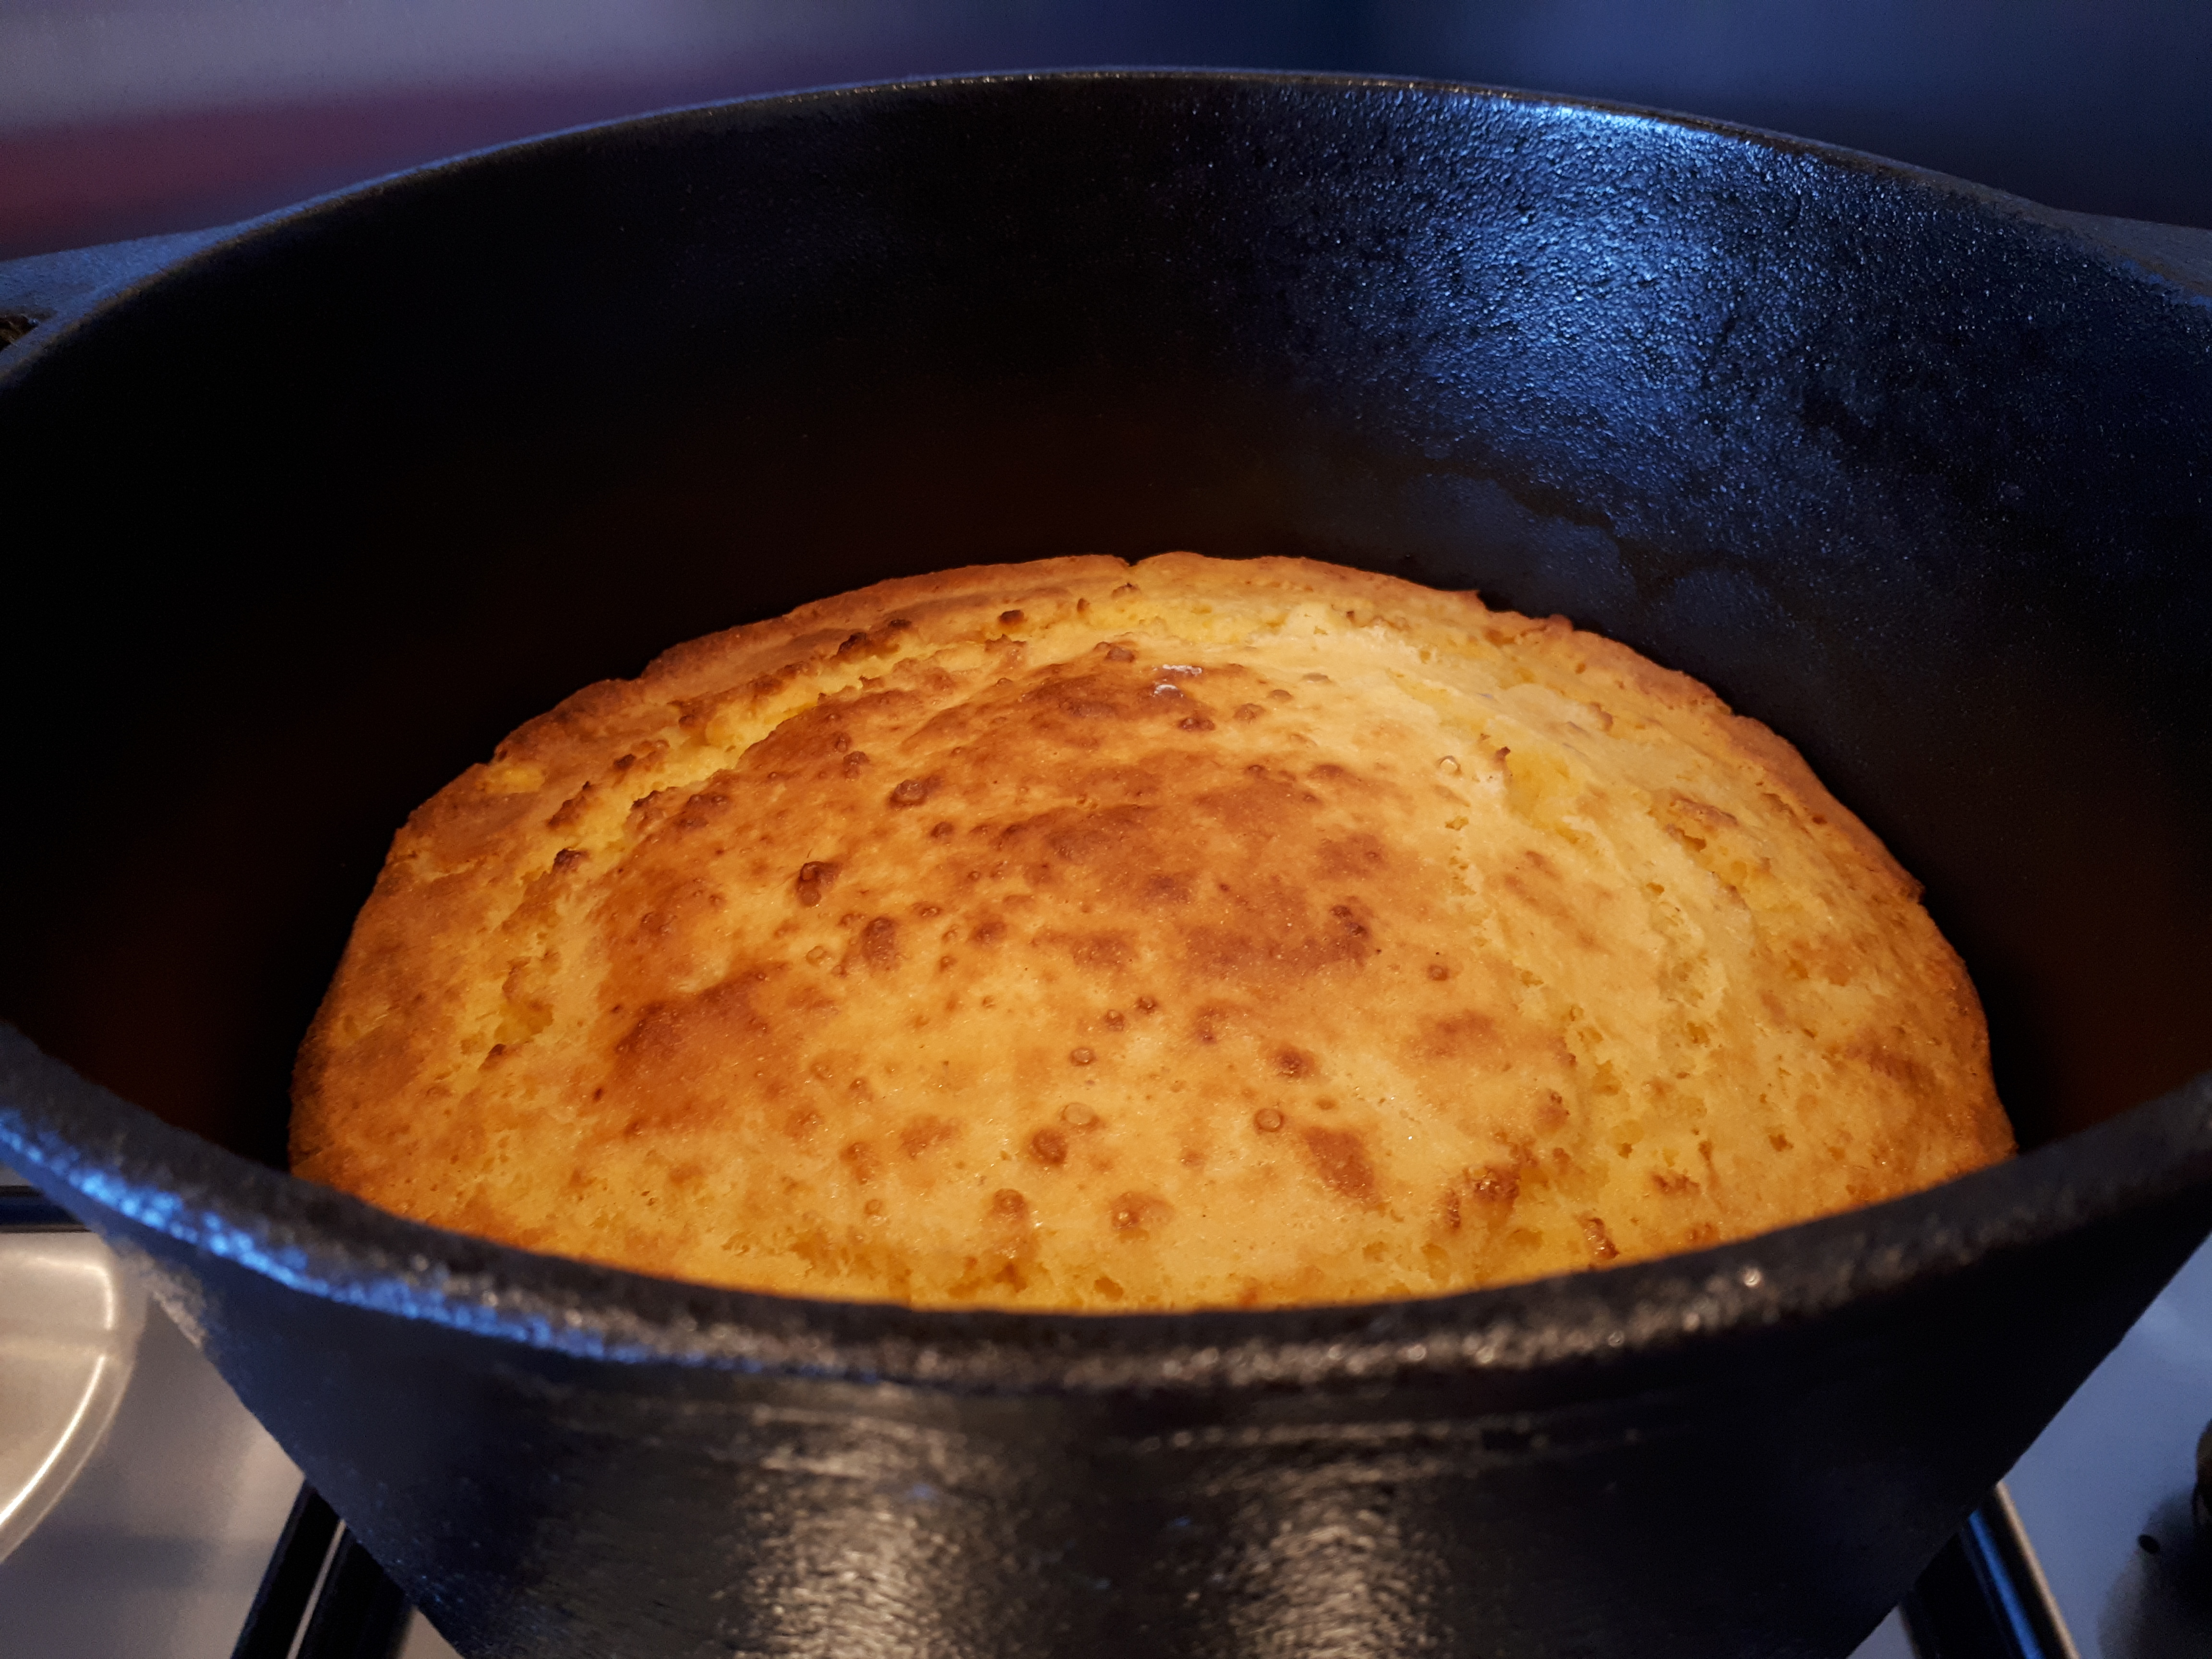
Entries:
{"type": "Polygon", "coordinates": [[[294,1168],[922,1305],[1422,1296],[2002,1157],[1913,883],[1624,646],[1298,560],[889,582],[571,697],[392,847],[294,1168]]]}

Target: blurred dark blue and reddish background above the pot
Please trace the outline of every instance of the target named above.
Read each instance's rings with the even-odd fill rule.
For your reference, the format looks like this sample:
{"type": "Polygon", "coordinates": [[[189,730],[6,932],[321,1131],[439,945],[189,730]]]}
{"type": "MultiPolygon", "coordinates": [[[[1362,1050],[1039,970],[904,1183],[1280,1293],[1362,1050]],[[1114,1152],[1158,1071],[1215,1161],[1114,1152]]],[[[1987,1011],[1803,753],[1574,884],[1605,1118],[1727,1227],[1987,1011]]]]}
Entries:
{"type": "Polygon", "coordinates": [[[0,257],[670,104],[1071,64],[1584,93],[2212,223],[2212,0],[0,0],[0,257]]]}

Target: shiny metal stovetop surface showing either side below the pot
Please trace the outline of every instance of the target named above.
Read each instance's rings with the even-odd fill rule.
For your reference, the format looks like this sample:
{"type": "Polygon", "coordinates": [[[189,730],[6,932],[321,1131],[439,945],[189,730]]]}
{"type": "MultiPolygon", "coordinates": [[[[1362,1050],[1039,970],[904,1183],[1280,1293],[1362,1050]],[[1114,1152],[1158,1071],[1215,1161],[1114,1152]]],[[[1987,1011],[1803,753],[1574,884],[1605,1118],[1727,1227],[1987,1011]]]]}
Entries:
{"type": "MultiPolygon", "coordinates": [[[[2190,1486],[2212,1418],[2212,1245],[2006,1486],[2079,1659],[2205,1659],[2190,1486]],[[2148,1544],[2143,1540],[2150,1540],[2148,1544]],[[2154,1546],[2154,1548],[2152,1548],[2154,1546]]],[[[102,1447],[0,1559],[9,1659],[228,1659],[299,1471],[159,1310],[102,1447]]],[[[416,1617],[400,1659],[453,1659],[416,1617]]],[[[1854,1659],[1911,1659],[1891,1615],[1854,1659]]]]}

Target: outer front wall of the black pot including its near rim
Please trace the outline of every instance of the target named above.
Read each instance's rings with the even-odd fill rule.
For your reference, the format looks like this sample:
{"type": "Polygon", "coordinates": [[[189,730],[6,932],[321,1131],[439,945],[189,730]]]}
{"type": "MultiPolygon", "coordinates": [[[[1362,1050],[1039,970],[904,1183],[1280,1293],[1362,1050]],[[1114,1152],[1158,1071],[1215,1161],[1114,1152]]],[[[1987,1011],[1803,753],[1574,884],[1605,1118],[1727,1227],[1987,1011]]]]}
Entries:
{"type": "Polygon", "coordinates": [[[2199,1084],[1601,1276],[807,1321],[416,1228],[0,1060],[0,1144],[476,1659],[1834,1657],[2212,1225],[2199,1084]]]}

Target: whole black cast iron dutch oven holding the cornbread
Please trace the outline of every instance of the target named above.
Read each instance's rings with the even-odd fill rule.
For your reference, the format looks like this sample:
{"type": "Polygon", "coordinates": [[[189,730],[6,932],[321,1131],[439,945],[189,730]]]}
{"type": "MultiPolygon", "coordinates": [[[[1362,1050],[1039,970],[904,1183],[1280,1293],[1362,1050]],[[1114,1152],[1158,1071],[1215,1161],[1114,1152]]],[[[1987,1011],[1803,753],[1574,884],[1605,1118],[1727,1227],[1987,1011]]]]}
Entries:
{"type": "Polygon", "coordinates": [[[1843,1655],[2212,1225],[2192,237],[1608,106],[1095,73],[168,246],[0,356],[0,1159],[478,1659],[1843,1655]],[[1179,1316],[699,1290],[281,1172],[385,838],[504,730],[878,577],[1170,546],[1564,611],[1783,730],[1927,880],[2031,1150],[1179,1316]]]}

